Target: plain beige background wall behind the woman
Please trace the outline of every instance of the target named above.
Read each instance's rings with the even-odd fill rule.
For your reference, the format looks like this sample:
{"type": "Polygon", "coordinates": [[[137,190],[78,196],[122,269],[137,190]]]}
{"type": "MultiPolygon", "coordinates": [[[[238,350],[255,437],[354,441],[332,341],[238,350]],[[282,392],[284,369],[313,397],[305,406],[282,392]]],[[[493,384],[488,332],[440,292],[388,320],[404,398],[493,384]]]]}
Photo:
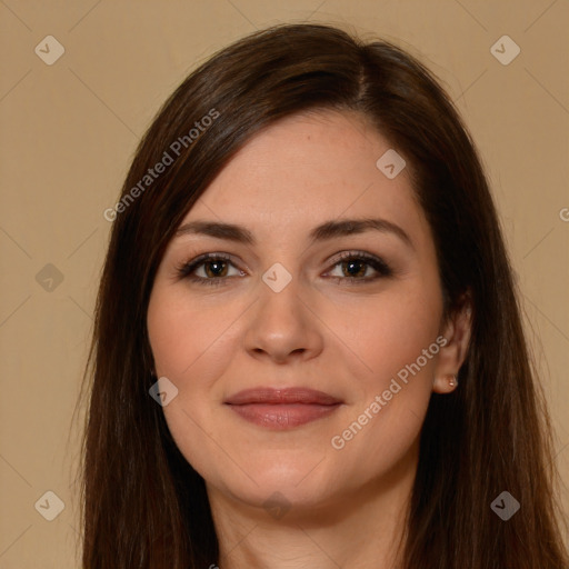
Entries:
{"type": "Polygon", "coordinates": [[[567,0],[1,0],[0,568],[79,567],[72,413],[102,212],[139,138],[198,63],[282,21],[389,39],[445,81],[488,168],[569,480],[567,0]],[[52,66],[34,52],[50,34],[64,47],[52,66]],[[508,66],[490,51],[503,34],[521,48],[508,66]],[[66,505],[51,522],[34,509],[49,490],[66,505]]]}

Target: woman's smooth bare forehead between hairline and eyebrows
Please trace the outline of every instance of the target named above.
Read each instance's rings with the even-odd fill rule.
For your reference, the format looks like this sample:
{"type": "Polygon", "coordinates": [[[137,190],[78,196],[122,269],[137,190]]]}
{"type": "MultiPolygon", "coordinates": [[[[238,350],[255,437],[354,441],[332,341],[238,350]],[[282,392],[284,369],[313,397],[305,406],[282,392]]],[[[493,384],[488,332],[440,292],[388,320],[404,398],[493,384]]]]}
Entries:
{"type": "Polygon", "coordinates": [[[425,220],[407,169],[390,179],[377,166],[390,150],[356,112],[288,117],[240,149],[181,224],[236,223],[260,240],[290,239],[291,231],[308,233],[345,217],[381,217],[420,230],[425,220]]]}

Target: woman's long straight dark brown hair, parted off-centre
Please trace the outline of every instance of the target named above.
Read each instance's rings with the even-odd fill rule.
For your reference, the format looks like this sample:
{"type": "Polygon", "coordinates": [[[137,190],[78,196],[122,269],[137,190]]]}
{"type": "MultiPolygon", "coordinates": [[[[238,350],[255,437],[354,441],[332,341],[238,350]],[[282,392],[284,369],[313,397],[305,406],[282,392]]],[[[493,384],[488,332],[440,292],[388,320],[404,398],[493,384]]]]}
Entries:
{"type": "Polygon", "coordinates": [[[204,481],[149,396],[149,297],[173,232],[231,157],[260,129],[311,109],[359,112],[406,158],[447,311],[466,291],[472,299],[460,388],[432,395],[423,423],[401,567],[567,567],[543,396],[492,198],[461,119],[435,77],[398,47],[328,26],[281,24],[219,51],[183,81],[140,142],[109,213],[83,382],[84,569],[218,560],[204,481]],[[508,521],[490,507],[502,491],[521,505],[508,521]]]}

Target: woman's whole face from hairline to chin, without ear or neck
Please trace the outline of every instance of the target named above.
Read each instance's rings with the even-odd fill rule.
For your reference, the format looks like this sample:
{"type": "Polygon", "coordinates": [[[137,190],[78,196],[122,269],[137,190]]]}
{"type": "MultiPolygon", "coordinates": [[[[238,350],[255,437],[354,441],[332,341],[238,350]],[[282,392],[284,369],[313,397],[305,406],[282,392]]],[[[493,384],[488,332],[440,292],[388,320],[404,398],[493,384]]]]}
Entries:
{"type": "Polygon", "coordinates": [[[178,389],[169,429],[210,496],[261,507],[279,492],[300,511],[413,463],[449,348],[408,171],[376,164],[390,148],[357,114],[287,118],[170,241],[148,330],[161,387],[178,389]],[[348,219],[376,222],[333,230],[348,219]]]}

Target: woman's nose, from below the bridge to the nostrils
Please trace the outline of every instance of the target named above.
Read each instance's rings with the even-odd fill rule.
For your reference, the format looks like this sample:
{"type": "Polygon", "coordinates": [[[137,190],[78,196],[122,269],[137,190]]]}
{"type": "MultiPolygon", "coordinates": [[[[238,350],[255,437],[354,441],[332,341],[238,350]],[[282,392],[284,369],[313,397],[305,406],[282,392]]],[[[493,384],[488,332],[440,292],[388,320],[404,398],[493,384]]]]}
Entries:
{"type": "Polygon", "coordinates": [[[262,282],[259,299],[248,315],[247,351],[276,363],[317,357],[323,348],[317,310],[316,297],[301,290],[295,277],[278,292],[262,282]]]}

